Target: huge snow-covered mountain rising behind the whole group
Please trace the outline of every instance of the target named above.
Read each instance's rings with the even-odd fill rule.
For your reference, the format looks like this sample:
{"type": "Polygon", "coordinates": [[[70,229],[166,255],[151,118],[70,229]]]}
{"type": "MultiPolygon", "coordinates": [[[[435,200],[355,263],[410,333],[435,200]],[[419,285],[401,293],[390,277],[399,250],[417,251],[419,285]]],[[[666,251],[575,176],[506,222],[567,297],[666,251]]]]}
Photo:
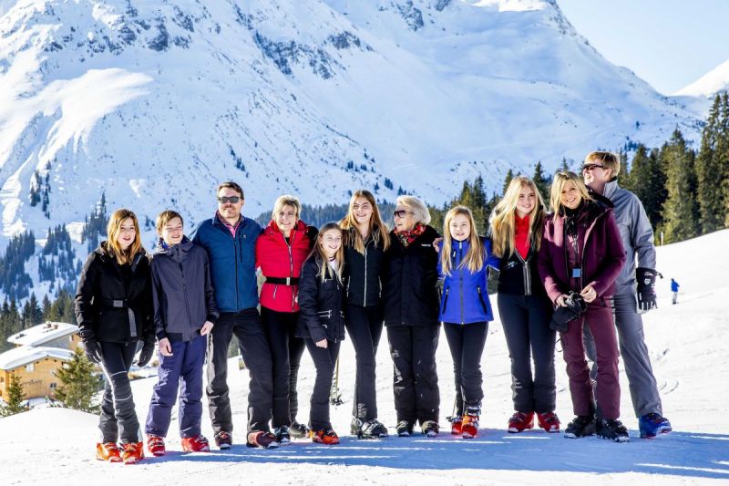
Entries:
{"type": "Polygon", "coordinates": [[[3,0],[0,14],[0,249],[58,223],[78,241],[102,192],[142,221],[175,207],[193,223],[226,179],[253,215],[283,192],[316,205],[357,187],[440,204],[477,173],[497,189],[538,160],[698,134],[554,0],[3,0]]]}

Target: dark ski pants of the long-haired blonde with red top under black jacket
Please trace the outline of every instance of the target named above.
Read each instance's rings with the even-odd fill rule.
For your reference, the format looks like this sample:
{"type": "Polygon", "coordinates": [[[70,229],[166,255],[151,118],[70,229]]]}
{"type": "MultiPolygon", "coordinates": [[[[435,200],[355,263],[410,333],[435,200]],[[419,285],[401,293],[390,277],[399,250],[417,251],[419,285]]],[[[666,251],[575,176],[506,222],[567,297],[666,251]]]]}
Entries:
{"type": "Polygon", "coordinates": [[[518,412],[553,412],[557,401],[552,306],[539,295],[498,295],[498,315],[511,358],[511,391],[518,412]],[[531,363],[534,361],[534,373],[531,363]]]}

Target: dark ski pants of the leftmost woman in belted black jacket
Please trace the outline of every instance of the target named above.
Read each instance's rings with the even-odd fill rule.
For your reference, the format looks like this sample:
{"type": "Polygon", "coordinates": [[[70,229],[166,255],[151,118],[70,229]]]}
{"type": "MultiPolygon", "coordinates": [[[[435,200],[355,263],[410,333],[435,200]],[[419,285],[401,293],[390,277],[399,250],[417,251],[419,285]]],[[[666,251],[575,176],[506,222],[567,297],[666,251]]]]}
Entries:
{"type": "Polygon", "coordinates": [[[106,377],[101,416],[98,420],[102,441],[117,442],[120,439],[123,444],[141,442],[141,429],[128,377],[131,362],[137,352],[137,341],[126,344],[101,341],[99,345],[100,366],[106,377]]]}

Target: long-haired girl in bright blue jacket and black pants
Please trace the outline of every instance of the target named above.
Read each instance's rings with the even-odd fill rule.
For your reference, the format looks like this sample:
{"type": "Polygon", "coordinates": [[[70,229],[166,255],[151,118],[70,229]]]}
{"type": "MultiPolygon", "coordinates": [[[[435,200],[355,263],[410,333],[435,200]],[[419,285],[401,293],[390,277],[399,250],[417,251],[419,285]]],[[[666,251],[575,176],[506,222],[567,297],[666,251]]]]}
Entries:
{"type": "Polygon", "coordinates": [[[443,293],[438,320],[443,322],[456,375],[456,413],[451,433],[464,439],[477,436],[481,400],[481,355],[488,322],[493,320],[488,302],[487,266],[498,268],[491,243],[477,234],[473,214],[456,206],[446,214],[439,250],[438,278],[443,293]]]}

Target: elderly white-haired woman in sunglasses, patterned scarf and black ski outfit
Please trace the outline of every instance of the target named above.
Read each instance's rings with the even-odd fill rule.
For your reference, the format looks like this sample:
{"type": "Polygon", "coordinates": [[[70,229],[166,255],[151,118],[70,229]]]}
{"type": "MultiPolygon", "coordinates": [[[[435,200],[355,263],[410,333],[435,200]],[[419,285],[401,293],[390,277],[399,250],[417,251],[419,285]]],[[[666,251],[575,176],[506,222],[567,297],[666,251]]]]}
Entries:
{"type": "Polygon", "coordinates": [[[438,233],[428,226],[430,212],[413,196],[397,198],[395,229],[385,253],[383,304],[390,354],[397,435],[407,437],[420,421],[426,437],[438,434],[440,394],[436,372],[438,326],[438,233]]]}

